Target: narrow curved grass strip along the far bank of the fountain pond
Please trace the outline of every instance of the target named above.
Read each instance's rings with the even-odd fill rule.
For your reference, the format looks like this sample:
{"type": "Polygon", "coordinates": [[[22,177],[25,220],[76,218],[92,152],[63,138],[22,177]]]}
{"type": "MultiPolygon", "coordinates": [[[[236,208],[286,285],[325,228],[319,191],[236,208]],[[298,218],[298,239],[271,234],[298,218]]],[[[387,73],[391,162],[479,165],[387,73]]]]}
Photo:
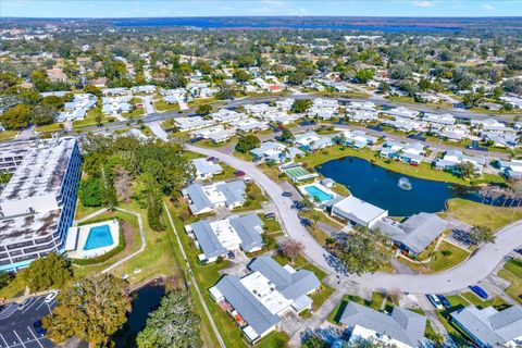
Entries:
{"type": "MultiPolygon", "coordinates": [[[[349,147],[333,146],[315,153],[307,153],[306,157],[300,159],[300,162],[303,163],[304,166],[311,169],[320,165],[321,163],[349,156],[371,161],[376,165],[400,174],[437,182],[446,182],[468,186],[470,185],[470,182],[464,181],[452,173],[432,169],[428,163],[421,163],[418,166],[412,166],[403,162],[395,162],[388,159],[382,159],[377,156],[376,152],[368,148],[362,150],[356,150],[349,147]]],[[[501,181],[499,176],[495,177],[498,177],[498,181],[501,181]]]]}

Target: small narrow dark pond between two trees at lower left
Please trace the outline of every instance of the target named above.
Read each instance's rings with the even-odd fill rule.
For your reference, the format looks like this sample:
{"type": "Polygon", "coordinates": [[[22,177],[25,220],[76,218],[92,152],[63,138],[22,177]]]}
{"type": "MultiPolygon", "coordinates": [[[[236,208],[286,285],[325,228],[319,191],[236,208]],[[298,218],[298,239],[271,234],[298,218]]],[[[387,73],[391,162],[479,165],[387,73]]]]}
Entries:
{"type": "Polygon", "coordinates": [[[127,322],[114,335],[116,348],[136,347],[136,336],[145,327],[149,313],[160,307],[165,295],[165,287],[159,283],[150,283],[132,293],[133,311],[127,314],[127,322]]]}

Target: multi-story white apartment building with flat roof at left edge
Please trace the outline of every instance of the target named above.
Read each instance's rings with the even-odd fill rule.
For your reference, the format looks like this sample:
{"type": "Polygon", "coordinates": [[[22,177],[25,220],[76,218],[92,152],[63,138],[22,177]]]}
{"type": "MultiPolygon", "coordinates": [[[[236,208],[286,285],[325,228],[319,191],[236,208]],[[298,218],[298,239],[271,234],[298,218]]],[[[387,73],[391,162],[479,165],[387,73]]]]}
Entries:
{"type": "Polygon", "coordinates": [[[75,139],[53,138],[25,152],[0,195],[0,271],[63,251],[80,177],[75,139]]]}

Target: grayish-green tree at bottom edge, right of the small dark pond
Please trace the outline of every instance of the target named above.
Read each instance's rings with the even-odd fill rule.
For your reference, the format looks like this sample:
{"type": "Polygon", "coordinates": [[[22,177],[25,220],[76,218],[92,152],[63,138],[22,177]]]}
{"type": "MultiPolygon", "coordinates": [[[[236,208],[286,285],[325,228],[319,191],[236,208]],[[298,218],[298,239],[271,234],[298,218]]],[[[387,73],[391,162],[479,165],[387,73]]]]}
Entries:
{"type": "Polygon", "coordinates": [[[147,326],[138,334],[136,343],[139,348],[202,347],[199,322],[188,296],[176,290],[163,297],[160,308],[149,315],[147,326]]]}

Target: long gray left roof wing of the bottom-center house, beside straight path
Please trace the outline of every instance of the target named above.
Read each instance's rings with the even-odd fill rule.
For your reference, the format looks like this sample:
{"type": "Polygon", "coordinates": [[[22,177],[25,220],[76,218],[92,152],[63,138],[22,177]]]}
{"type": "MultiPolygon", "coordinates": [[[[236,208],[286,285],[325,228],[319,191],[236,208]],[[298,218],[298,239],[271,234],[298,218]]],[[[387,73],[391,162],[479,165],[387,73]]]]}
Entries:
{"type": "Polygon", "coordinates": [[[281,322],[243,286],[237,275],[224,276],[215,287],[259,335],[281,322]]]}

